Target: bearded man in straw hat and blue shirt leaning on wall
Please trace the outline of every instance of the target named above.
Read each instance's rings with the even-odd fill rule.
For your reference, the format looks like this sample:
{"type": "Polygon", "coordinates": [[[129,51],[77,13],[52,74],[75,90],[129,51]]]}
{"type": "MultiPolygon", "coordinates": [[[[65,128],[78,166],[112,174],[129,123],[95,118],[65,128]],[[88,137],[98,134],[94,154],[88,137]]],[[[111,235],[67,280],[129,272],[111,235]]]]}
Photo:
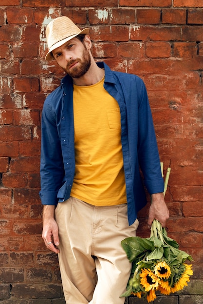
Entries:
{"type": "Polygon", "coordinates": [[[89,28],[68,17],[46,29],[53,60],[67,73],[42,113],[42,237],[58,253],[66,303],[123,304],[131,265],[121,240],[135,236],[151,195],[148,225],[166,224],[157,143],[143,81],[96,64],[89,28]]]}

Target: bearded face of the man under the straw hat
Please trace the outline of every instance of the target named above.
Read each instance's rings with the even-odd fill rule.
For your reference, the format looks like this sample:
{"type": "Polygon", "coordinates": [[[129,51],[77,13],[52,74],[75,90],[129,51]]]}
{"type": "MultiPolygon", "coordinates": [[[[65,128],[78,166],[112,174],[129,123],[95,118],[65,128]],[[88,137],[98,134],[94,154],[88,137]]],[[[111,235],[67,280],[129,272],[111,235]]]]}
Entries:
{"type": "Polygon", "coordinates": [[[72,78],[80,78],[91,66],[90,53],[79,39],[73,38],[55,49],[53,56],[58,65],[72,78]]]}

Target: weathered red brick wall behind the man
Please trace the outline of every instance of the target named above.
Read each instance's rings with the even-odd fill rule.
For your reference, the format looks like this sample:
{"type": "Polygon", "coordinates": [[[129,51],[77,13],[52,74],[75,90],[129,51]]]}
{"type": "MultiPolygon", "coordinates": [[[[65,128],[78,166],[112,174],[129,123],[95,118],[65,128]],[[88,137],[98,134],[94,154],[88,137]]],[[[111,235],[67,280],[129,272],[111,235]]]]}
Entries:
{"type": "Polygon", "coordinates": [[[171,167],[168,234],[195,260],[188,287],[154,303],[202,303],[203,1],[0,0],[0,304],[64,304],[38,197],[40,113],[63,76],[44,60],[44,32],[59,16],[92,27],[96,60],[145,81],[161,161],[171,167]]]}

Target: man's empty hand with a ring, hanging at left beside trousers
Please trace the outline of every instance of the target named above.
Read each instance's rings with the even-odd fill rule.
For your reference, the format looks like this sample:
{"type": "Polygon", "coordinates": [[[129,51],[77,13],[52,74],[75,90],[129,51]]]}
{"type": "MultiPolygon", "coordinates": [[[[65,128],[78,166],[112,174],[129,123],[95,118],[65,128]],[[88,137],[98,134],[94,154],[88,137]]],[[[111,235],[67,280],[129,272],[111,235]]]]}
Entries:
{"type": "Polygon", "coordinates": [[[56,248],[59,245],[58,225],[54,218],[54,212],[54,205],[44,205],[42,238],[48,249],[59,253],[59,249],[56,248]]]}

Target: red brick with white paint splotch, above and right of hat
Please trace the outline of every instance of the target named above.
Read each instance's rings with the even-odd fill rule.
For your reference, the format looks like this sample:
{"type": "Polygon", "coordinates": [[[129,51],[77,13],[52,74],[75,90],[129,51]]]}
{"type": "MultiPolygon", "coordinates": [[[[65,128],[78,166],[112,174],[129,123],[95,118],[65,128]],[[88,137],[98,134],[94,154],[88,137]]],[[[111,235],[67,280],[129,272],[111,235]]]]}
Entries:
{"type": "Polygon", "coordinates": [[[108,9],[90,9],[88,11],[90,24],[108,24],[110,22],[110,14],[108,9]]]}

